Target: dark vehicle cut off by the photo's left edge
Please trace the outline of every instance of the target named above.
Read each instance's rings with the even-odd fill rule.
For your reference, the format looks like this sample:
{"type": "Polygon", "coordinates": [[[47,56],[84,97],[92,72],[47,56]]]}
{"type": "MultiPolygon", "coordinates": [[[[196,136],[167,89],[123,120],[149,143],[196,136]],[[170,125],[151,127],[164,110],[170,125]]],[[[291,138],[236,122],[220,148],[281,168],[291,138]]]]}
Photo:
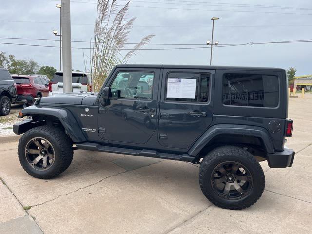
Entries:
{"type": "Polygon", "coordinates": [[[16,83],[7,69],[0,68],[0,116],[10,113],[16,97],[16,83]]]}

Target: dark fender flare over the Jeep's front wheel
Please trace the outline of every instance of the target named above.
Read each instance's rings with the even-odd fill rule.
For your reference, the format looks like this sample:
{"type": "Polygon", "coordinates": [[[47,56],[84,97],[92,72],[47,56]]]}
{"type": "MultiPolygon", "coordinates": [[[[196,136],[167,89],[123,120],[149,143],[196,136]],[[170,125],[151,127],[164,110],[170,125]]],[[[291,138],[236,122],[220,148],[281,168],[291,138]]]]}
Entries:
{"type": "MultiPolygon", "coordinates": [[[[72,138],[73,142],[84,142],[86,137],[84,136],[82,130],[79,128],[74,115],[62,108],[51,108],[51,107],[37,107],[35,105],[29,106],[21,111],[24,116],[54,116],[59,119],[66,133],[72,138]]],[[[29,128],[28,128],[29,129],[29,128]]],[[[26,131],[28,130],[26,129],[26,131]]],[[[17,130],[18,131],[18,130],[17,130]]],[[[26,132],[23,131],[23,132],[26,132]]],[[[19,132],[21,134],[22,132],[19,132]]]]}

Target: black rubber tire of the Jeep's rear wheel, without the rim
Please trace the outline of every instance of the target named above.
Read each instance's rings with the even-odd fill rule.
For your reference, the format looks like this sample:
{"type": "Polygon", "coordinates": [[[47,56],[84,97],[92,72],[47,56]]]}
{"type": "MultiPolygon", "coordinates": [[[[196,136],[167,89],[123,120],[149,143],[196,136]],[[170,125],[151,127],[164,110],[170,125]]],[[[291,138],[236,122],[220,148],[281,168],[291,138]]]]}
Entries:
{"type": "Polygon", "coordinates": [[[250,207],[261,197],[265,187],[265,177],[260,164],[251,153],[237,146],[221,146],[203,158],[199,169],[199,185],[203,194],[216,206],[241,210],[250,207]],[[238,200],[230,200],[217,195],[211,184],[211,175],[215,167],[227,161],[241,163],[253,176],[253,185],[249,194],[238,200]]]}

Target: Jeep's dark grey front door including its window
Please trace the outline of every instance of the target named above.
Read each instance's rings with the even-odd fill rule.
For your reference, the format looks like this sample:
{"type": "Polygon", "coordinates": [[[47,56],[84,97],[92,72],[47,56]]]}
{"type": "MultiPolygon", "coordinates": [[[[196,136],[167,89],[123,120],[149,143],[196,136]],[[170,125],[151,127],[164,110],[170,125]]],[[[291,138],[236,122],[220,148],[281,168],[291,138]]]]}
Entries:
{"type": "Polygon", "coordinates": [[[99,137],[110,144],[145,144],[156,131],[160,69],[117,69],[107,85],[109,103],[99,102],[99,137]]]}

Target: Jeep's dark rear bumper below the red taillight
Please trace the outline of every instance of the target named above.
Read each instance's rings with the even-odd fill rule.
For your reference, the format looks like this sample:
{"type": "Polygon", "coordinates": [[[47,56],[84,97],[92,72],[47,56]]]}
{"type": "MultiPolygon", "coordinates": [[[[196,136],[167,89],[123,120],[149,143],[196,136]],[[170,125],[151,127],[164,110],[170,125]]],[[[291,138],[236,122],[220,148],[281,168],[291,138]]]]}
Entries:
{"type": "Polygon", "coordinates": [[[268,164],[271,168],[291,167],[295,152],[292,149],[284,148],[284,151],[267,154],[268,164]]]}

